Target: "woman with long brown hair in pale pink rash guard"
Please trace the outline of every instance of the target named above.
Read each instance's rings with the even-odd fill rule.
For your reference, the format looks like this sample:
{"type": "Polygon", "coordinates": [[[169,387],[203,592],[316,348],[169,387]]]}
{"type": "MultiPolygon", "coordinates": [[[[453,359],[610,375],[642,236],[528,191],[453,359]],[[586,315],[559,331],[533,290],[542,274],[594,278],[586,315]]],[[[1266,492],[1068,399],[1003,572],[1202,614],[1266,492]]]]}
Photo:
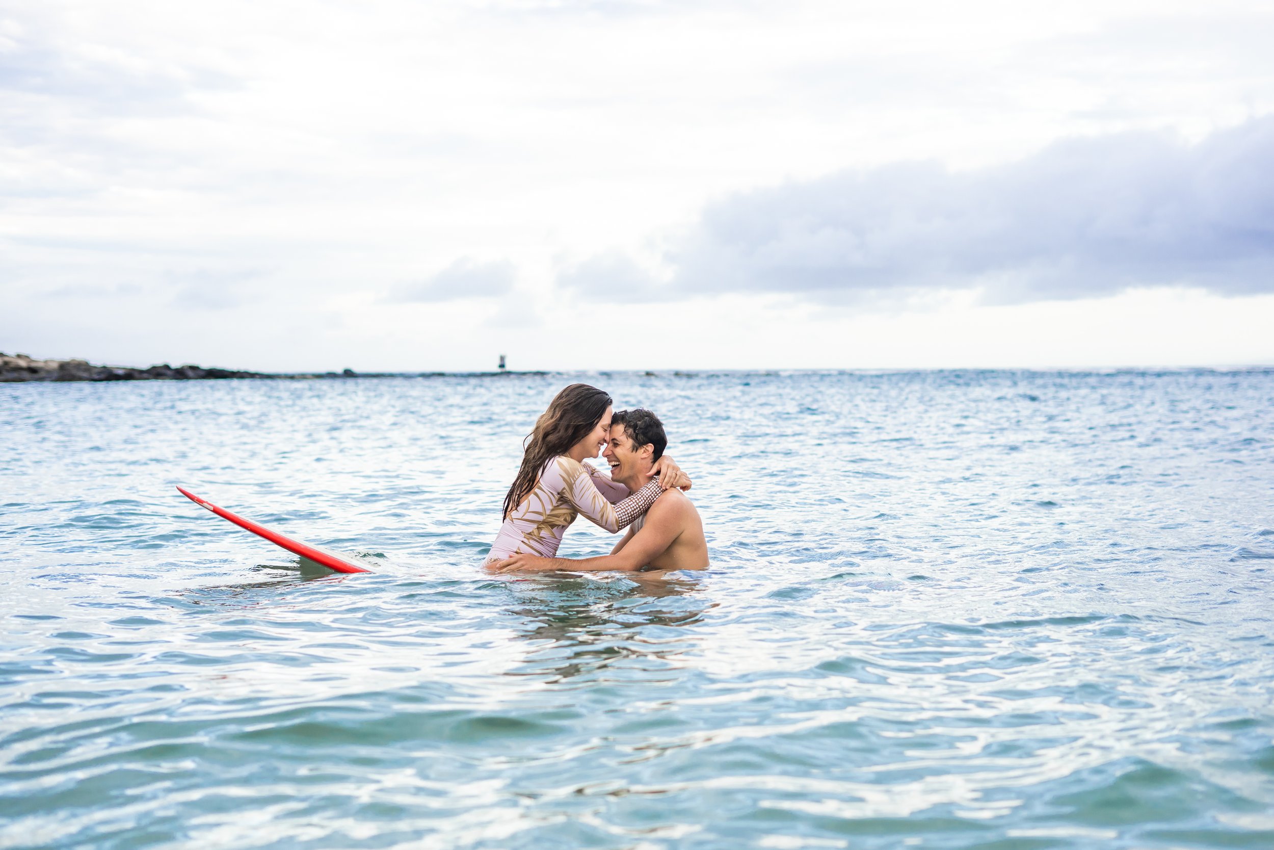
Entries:
{"type": "Polygon", "coordinates": [[[659,478],[632,494],[583,463],[605,445],[610,413],[610,396],[595,386],[572,384],[557,394],[522,443],[522,466],[505,496],[505,524],[487,563],[519,552],[552,558],[576,516],[582,514],[614,534],[669,487],[691,488],[691,479],[666,455],[655,464],[659,478]]]}

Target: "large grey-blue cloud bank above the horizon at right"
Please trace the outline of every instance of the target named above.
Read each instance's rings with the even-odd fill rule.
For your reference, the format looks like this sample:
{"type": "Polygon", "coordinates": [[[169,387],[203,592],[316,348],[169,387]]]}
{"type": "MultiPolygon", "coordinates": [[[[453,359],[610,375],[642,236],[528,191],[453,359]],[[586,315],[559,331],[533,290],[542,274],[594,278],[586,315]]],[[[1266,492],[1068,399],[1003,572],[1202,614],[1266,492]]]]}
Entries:
{"type": "Polygon", "coordinates": [[[972,288],[1001,302],[1154,285],[1271,292],[1274,117],[1195,145],[1119,134],[971,172],[899,164],[754,190],[708,206],[662,259],[664,282],[604,254],[561,283],[603,299],[786,292],[833,303],[972,288]]]}

